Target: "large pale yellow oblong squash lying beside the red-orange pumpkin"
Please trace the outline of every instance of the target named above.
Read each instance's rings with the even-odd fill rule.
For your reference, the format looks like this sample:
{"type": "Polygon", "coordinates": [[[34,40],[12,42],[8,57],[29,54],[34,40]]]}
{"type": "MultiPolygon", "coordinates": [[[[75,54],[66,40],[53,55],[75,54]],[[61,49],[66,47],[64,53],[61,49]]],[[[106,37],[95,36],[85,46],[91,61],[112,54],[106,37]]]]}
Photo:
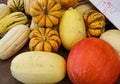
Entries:
{"type": "Polygon", "coordinates": [[[56,84],[66,75],[66,61],[56,53],[28,51],[15,56],[10,71],[24,84],[56,84]]]}

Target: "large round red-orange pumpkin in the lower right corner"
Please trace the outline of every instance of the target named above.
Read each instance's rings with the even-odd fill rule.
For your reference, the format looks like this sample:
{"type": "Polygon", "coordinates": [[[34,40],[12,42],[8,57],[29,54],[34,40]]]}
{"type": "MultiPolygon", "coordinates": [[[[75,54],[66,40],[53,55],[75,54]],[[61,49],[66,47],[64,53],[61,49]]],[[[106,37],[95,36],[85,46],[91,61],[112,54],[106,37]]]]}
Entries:
{"type": "Polygon", "coordinates": [[[109,43],[89,37],[70,50],[67,73],[73,84],[115,84],[119,65],[118,54],[109,43]]]}

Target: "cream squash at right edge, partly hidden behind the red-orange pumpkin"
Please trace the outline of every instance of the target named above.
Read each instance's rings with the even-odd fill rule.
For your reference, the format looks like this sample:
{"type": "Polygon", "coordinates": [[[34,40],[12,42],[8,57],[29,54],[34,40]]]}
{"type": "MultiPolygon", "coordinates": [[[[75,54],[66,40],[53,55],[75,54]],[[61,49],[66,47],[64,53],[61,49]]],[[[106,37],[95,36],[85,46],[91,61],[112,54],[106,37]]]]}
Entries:
{"type": "Polygon", "coordinates": [[[107,30],[100,38],[107,41],[117,51],[120,59],[120,30],[107,30]]]}

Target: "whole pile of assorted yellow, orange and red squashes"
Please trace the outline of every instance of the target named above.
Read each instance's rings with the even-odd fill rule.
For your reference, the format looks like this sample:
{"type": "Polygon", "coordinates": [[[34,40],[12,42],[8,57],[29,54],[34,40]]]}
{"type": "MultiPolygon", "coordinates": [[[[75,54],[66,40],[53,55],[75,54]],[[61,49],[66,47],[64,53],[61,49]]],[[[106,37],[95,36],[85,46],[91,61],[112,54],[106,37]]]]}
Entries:
{"type": "Polygon", "coordinates": [[[88,0],[7,0],[0,4],[0,59],[16,55],[12,76],[26,84],[114,84],[120,30],[88,0]],[[63,46],[67,60],[57,52],[63,46]]]}

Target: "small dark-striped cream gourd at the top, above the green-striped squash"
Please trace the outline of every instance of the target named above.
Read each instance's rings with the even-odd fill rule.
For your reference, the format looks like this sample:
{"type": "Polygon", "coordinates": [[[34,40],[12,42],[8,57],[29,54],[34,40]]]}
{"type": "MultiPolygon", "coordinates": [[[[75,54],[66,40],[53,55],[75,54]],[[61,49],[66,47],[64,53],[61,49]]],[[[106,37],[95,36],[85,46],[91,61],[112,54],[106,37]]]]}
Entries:
{"type": "Polygon", "coordinates": [[[12,11],[23,11],[24,0],[8,0],[7,5],[12,11]]]}

